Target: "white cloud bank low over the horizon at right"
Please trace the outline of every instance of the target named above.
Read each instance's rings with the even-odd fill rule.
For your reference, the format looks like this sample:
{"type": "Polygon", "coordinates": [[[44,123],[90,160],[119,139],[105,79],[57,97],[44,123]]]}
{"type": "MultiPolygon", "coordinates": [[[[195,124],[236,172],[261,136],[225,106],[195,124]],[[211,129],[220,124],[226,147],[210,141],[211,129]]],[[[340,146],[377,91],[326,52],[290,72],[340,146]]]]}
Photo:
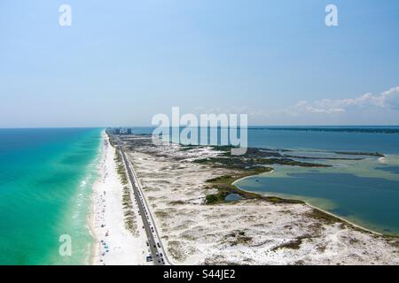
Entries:
{"type": "Polygon", "coordinates": [[[254,125],[399,125],[399,86],[353,98],[302,100],[278,110],[239,106],[229,109],[196,107],[194,111],[197,114],[248,114],[250,124],[254,125]],[[354,122],[342,123],[348,120],[354,122]]]}

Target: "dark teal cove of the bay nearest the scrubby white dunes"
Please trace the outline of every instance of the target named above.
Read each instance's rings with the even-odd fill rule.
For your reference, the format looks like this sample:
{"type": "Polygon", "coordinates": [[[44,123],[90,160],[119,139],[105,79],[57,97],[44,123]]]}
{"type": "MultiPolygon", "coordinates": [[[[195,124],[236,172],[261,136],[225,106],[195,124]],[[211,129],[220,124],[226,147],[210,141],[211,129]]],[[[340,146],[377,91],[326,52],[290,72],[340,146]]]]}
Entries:
{"type": "Polygon", "coordinates": [[[251,177],[237,185],[266,195],[302,199],[370,229],[399,233],[398,181],[333,171],[277,170],[278,177],[251,177]]]}

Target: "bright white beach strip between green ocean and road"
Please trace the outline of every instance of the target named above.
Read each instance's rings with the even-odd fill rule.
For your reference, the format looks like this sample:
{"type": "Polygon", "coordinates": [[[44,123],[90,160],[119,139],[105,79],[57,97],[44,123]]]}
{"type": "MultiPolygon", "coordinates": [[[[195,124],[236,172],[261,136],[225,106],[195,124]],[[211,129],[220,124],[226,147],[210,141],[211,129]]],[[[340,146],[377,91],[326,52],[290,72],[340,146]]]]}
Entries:
{"type": "MultiPolygon", "coordinates": [[[[137,215],[137,206],[133,202],[133,217],[137,228],[128,231],[124,223],[122,207],[123,185],[116,171],[115,149],[108,142],[108,137],[103,133],[99,163],[98,180],[93,186],[92,211],[90,215],[90,228],[95,238],[92,251],[91,264],[147,264],[145,256],[145,232],[140,229],[143,224],[137,215]]],[[[132,195],[132,200],[134,197],[132,195]]]]}

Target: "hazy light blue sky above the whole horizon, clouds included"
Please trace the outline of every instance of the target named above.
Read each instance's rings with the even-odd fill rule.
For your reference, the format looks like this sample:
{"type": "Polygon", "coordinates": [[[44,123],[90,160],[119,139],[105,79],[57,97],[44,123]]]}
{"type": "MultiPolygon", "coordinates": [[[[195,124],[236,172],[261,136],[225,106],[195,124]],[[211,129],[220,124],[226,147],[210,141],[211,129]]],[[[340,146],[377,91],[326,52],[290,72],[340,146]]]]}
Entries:
{"type": "Polygon", "coordinates": [[[2,0],[0,127],[399,125],[398,34],[396,0],[2,0]]]}

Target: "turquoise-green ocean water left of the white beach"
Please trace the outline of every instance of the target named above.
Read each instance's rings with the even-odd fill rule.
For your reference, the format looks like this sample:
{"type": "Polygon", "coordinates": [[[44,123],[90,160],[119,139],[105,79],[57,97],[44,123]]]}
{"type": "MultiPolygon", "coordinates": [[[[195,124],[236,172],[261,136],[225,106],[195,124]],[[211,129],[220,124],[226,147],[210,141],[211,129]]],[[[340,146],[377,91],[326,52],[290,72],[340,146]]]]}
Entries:
{"type": "Polygon", "coordinates": [[[0,129],[0,264],[87,264],[100,129],[0,129]],[[72,256],[59,255],[70,235],[72,256]]]}

